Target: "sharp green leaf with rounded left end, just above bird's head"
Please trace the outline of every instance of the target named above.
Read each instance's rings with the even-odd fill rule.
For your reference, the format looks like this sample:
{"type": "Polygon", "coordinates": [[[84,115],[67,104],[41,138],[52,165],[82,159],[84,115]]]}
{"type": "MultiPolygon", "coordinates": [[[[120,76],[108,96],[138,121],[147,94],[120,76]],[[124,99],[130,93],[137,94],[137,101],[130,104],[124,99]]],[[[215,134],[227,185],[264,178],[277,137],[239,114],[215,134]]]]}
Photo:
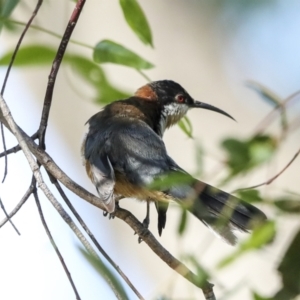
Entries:
{"type": "Polygon", "coordinates": [[[153,64],[138,56],[131,50],[113,41],[103,40],[94,49],[94,61],[97,63],[114,63],[134,69],[151,69],[153,64]]]}

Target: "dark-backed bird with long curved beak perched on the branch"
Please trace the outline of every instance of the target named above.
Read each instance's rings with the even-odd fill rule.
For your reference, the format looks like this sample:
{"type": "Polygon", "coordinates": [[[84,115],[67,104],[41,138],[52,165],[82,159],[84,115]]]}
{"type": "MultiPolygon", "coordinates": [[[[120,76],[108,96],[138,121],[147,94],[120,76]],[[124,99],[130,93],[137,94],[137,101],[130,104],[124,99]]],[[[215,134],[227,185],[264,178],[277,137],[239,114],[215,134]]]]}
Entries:
{"type": "Polygon", "coordinates": [[[161,235],[168,205],[177,202],[225,242],[235,245],[236,230],[249,232],[267,217],[257,207],[194,178],[168,155],[162,139],[165,130],[193,108],[233,119],[215,106],[194,100],[172,80],[147,83],[87,121],[89,128],[81,147],[83,164],[107,213],[113,214],[122,198],[147,201],[143,224],[148,227],[149,202],[154,202],[161,235]],[[164,186],[164,179],[172,175],[178,175],[179,181],[164,186]]]}

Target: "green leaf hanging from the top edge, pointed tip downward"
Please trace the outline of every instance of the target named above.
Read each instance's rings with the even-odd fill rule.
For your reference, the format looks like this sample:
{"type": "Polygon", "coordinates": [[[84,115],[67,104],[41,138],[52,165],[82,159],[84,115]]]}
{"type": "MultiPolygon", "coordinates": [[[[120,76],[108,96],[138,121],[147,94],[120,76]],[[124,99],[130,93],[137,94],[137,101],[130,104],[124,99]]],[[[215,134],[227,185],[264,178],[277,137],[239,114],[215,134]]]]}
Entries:
{"type": "Polygon", "coordinates": [[[151,29],[138,2],[136,0],[120,0],[120,5],[129,27],[144,44],[153,47],[151,29]]]}

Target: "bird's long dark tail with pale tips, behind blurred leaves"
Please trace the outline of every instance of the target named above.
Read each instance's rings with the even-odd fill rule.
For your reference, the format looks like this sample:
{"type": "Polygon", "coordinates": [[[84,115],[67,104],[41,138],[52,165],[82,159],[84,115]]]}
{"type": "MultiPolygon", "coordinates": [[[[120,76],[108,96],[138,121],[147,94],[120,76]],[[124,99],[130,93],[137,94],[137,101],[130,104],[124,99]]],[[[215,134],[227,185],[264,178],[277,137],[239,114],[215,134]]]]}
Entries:
{"type": "Polygon", "coordinates": [[[170,192],[174,198],[182,199],[183,206],[231,245],[237,241],[235,229],[248,232],[267,219],[255,206],[198,180],[192,186],[181,186],[170,192]],[[186,197],[191,191],[193,196],[186,197]]]}

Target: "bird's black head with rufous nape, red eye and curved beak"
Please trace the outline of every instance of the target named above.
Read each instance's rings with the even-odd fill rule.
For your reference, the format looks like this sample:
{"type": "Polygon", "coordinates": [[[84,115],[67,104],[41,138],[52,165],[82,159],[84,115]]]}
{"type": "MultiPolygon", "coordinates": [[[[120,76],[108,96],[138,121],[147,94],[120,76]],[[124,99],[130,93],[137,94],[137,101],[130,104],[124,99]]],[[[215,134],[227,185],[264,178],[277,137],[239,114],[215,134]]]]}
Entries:
{"type": "Polygon", "coordinates": [[[225,111],[210,104],[194,100],[178,83],[171,80],[153,81],[137,90],[136,96],[157,101],[161,107],[161,133],[176,124],[191,108],[203,108],[225,115],[234,120],[225,111]]]}

